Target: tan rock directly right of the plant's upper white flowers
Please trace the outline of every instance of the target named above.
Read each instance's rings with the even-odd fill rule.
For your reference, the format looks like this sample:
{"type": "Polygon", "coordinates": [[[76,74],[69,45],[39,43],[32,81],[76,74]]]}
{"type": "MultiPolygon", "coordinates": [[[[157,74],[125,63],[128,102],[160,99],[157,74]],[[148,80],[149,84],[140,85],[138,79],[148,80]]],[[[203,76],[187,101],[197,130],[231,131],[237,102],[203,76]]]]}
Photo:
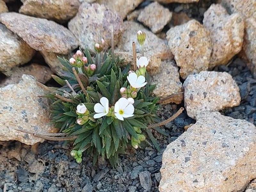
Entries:
{"type": "Polygon", "coordinates": [[[161,104],[180,104],[183,101],[179,69],[174,61],[162,61],[160,72],[152,76],[152,84],[156,84],[153,93],[163,100],[160,100],[161,104]]]}

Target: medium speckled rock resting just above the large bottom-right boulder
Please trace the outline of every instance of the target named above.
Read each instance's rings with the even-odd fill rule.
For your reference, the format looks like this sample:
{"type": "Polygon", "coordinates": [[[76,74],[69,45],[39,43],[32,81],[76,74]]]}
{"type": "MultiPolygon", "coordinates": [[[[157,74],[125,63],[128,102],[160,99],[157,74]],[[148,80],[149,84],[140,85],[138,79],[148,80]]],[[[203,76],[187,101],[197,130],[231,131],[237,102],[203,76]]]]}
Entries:
{"type": "Polygon", "coordinates": [[[184,84],[184,104],[188,116],[219,111],[240,104],[239,88],[226,72],[202,71],[189,75],[184,84]]]}

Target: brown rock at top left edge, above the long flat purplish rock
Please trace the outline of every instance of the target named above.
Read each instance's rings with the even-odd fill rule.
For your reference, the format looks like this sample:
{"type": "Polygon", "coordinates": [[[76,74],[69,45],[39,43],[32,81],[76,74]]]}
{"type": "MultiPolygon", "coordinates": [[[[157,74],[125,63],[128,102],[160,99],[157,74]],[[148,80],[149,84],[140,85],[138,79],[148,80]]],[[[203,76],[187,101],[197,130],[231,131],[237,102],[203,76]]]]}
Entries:
{"type": "Polygon", "coordinates": [[[19,12],[64,23],[76,15],[79,5],[78,0],[25,0],[19,12]]]}

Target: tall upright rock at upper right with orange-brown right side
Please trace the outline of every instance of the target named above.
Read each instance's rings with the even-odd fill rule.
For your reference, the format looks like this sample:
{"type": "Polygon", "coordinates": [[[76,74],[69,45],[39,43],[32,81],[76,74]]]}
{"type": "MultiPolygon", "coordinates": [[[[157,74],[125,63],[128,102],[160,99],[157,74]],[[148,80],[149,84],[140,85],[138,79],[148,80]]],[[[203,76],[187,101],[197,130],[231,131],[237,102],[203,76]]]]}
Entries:
{"type": "Polygon", "coordinates": [[[244,20],[239,13],[228,15],[220,4],[212,4],[204,12],[204,27],[210,31],[212,55],[210,68],[225,65],[242,49],[244,20]]]}

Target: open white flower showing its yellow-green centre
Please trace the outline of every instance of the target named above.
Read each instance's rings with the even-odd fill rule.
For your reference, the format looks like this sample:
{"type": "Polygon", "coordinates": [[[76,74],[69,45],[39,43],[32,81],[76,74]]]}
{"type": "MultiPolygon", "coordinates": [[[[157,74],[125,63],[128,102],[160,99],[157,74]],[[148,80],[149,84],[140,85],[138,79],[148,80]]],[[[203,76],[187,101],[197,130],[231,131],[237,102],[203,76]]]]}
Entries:
{"type": "Polygon", "coordinates": [[[115,116],[117,119],[124,121],[124,118],[132,117],[134,107],[129,103],[128,99],[122,97],[115,104],[115,116]]]}

